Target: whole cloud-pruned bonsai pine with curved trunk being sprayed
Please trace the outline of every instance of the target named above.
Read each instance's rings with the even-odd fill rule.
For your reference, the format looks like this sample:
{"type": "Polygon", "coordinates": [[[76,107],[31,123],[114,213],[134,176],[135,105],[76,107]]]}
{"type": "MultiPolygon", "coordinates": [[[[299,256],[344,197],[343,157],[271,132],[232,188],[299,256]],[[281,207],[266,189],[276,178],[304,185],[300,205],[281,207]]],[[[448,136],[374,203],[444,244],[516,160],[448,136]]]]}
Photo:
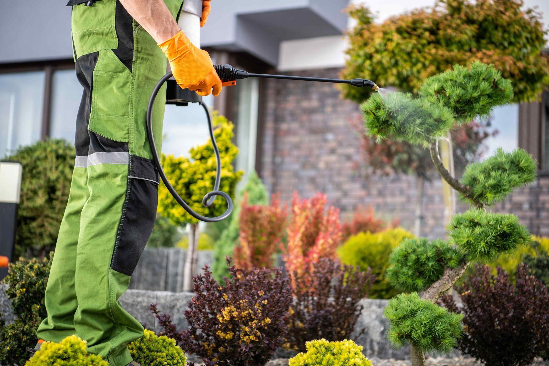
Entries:
{"type": "Polygon", "coordinates": [[[511,214],[492,213],[486,207],[505,199],[536,177],[536,162],[522,149],[498,150],[483,162],[468,165],[460,181],[442,165],[438,140],[463,123],[490,114],[513,98],[511,81],[494,65],[475,61],[469,68],[429,77],[410,93],[373,94],[361,105],[369,136],[400,139],[429,148],[440,176],[474,206],[452,218],[449,241],[403,240],[390,256],[388,279],[404,291],[389,301],[389,339],[410,344],[412,364],[424,365],[424,352],[449,351],[461,333],[461,318],[435,305],[463,275],[473,260],[494,260],[530,241],[530,233],[511,214]]]}

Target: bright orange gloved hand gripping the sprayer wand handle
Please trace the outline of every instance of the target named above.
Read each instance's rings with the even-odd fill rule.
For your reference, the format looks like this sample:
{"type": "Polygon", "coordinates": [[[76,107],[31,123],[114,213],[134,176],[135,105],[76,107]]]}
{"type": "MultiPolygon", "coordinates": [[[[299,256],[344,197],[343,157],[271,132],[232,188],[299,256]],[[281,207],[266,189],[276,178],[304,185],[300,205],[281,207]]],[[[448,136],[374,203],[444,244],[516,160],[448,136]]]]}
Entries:
{"type": "Polygon", "coordinates": [[[180,87],[196,91],[203,97],[210,95],[211,88],[214,88],[214,95],[219,95],[221,80],[215,72],[210,55],[195,47],[183,31],[160,43],[158,47],[170,61],[173,77],[180,87]]]}

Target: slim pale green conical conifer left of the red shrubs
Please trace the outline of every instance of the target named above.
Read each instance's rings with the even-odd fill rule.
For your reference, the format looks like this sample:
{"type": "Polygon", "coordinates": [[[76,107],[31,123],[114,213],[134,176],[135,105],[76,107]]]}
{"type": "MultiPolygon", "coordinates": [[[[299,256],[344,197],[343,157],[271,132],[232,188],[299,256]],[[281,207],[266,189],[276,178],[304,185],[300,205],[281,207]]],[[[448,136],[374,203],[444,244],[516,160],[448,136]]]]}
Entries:
{"type": "Polygon", "coordinates": [[[228,226],[221,232],[219,240],[216,241],[214,246],[214,261],[212,263],[212,272],[216,280],[221,281],[223,276],[228,276],[226,257],[233,256],[234,245],[238,240],[238,221],[240,218],[240,202],[242,201],[244,194],[248,194],[249,205],[267,205],[269,196],[267,194],[267,188],[261,182],[261,179],[257,176],[255,171],[250,172],[248,182],[244,188],[238,193],[238,197],[234,200],[234,208],[231,216],[227,219],[209,223],[210,226],[228,226]]]}

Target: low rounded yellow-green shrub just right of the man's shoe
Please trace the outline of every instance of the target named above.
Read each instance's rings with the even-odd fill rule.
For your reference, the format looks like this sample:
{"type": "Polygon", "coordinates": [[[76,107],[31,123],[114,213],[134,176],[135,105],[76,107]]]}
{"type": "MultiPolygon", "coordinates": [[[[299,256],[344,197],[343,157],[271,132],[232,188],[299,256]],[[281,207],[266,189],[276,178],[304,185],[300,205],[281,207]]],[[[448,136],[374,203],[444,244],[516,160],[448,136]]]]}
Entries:
{"type": "Polygon", "coordinates": [[[156,336],[145,329],[141,338],[128,344],[133,360],[141,366],[185,366],[187,357],[176,341],[167,336],[156,336]]]}

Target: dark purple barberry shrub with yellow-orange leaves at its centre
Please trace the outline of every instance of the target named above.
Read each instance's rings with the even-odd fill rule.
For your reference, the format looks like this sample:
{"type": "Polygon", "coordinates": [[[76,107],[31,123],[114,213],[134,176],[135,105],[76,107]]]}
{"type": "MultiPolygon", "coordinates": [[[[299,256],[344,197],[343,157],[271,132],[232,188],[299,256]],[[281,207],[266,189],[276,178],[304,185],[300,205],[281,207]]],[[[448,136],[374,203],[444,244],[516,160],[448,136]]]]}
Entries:
{"type": "Polygon", "coordinates": [[[208,266],[193,278],[196,295],[185,311],[181,347],[218,366],[261,366],[282,345],[292,290],[281,269],[239,269],[227,258],[221,286],[208,266]]]}

